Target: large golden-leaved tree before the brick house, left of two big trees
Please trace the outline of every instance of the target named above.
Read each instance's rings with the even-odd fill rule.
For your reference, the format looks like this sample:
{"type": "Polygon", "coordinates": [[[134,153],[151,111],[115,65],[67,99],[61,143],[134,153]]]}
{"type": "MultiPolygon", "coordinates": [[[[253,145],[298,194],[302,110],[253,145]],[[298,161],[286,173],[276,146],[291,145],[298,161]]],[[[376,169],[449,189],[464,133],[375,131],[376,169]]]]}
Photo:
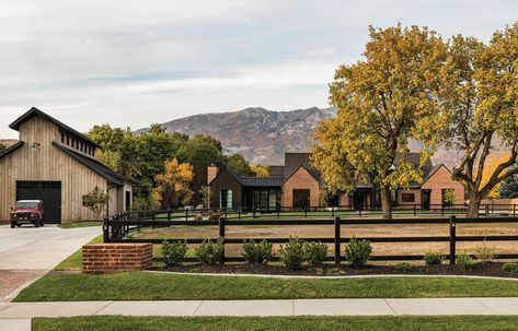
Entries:
{"type": "Polygon", "coordinates": [[[437,111],[446,45],[416,26],[370,27],[369,35],[365,59],[341,66],[330,84],[337,115],[318,126],[312,163],[332,191],[352,192],[355,178],[372,181],[380,188],[383,217],[391,218],[390,191],[422,178],[408,159],[407,141],[427,134],[415,130],[417,122],[437,111]]]}

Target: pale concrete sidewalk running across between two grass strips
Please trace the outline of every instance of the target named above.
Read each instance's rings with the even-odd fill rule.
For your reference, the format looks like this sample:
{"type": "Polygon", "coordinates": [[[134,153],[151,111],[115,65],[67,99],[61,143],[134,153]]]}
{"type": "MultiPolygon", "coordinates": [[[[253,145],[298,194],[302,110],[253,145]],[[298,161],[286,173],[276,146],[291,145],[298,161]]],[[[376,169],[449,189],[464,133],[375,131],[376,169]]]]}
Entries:
{"type": "Polygon", "coordinates": [[[511,298],[396,298],[191,302],[1,303],[0,331],[30,330],[31,318],[125,316],[518,315],[511,298]]]}

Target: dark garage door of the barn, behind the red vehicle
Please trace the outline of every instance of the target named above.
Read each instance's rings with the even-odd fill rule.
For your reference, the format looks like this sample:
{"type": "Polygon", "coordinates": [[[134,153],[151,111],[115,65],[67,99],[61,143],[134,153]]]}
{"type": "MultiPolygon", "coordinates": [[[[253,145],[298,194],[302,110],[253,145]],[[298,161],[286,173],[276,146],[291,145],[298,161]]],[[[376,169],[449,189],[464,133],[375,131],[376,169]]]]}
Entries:
{"type": "Polygon", "coordinates": [[[16,181],[18,200],[43,200],[44,223],[61,223],[61,181],[16,181]]]}

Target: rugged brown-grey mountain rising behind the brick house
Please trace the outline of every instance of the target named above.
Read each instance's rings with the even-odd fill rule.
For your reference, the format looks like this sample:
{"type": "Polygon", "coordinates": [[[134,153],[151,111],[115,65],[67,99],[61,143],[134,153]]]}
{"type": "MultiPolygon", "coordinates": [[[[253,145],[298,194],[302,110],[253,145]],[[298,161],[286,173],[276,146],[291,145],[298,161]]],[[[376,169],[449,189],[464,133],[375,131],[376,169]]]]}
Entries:
{"type": "MultiPolygon", "coordinates": [[[[286,152],[309,152],[319,121],[336,115],[333,107],[274,111],[261,107],[239,111],[200,114],[175,119],[162,126],[169,132],[207,134],[219,140],[226,154],[240,153],[248,161],[265,165],[284,164],[286,152]]],[[[143,132],[149,128],[140,129],[143,132]]],[[[410,142],[412,151],[421,143],[410,142]]],[[[446,158],[446,155],[442,155],[446,158]]],[[[434,159],[434,163],[440,163],[434,159]]]]}

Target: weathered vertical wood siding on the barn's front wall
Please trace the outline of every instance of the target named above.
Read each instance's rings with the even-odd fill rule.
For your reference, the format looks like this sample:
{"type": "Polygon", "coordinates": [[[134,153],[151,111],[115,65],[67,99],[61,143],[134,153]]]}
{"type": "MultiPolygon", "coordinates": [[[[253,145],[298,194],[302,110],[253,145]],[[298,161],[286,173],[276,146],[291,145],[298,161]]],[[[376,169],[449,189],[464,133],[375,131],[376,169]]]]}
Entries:
{"type": "MultiPolygon", "coordinates": [[[[38,116],[20,127],[24,145],[0,158],[0,220],[9,220],[16,199],[16,180],[59,180],[61,222],[93,218],[82,206],[82,196],[95,186],[106,191],[106,180],[51,145],[60,139],[58,127],[38,116]],[[39,149],[33,147],[34,143],[39,143],[39,149]]],[[[115,209],[118,197],[112,200],[115,209]]]]}

